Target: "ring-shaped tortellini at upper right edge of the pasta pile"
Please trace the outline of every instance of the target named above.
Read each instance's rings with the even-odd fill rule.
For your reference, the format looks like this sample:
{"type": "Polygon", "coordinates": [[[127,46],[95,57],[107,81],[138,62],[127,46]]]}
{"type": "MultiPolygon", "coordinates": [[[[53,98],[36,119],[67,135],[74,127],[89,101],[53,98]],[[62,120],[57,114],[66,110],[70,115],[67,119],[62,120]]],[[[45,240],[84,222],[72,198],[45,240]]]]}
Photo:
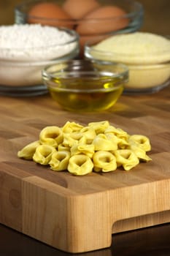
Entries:
{"type": "Polygon", "coordinates": [[[134,140],[146,152],[151,150],[150,140],[144,135],[131,135],[128,140],[134,140]]]}

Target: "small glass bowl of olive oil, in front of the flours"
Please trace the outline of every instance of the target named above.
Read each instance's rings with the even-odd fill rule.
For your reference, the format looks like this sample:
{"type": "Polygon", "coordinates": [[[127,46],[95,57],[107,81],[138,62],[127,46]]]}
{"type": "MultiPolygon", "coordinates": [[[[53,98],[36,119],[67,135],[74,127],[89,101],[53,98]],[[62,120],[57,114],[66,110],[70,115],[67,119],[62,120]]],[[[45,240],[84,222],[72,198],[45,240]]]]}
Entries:
{"type": "Polygon", "coordinates": [[[111,108],[128,82],[124,64],[98,60],[59,61],[42,70],[51,97],[65,110],[96,112],[111,108]]]}

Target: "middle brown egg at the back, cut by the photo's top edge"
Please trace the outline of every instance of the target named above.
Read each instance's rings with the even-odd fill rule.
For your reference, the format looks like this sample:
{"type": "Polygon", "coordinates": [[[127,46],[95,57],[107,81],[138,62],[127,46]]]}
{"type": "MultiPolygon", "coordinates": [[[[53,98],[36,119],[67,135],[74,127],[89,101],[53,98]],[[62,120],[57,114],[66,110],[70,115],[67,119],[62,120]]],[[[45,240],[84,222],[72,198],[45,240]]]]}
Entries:
{"type": "Polygon", "coordinates": [[[63,10],[74,19],[83,18],[97,7],[100,7],[100,4],[96,0],[66,0],[63,4],[63,10]]]}

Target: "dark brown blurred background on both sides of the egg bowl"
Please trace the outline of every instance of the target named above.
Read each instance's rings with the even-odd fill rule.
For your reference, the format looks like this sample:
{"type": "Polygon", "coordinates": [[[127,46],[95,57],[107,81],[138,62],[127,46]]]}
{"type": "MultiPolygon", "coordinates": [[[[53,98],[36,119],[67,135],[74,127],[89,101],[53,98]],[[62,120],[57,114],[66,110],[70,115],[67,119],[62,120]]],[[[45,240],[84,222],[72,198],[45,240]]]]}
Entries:
{"type": "MultiPolygon", "coordinates": [[[[14,23],[14,8],[23,0],[0,0],[0,26],[14,23]]],[[[170,0],[139,0],[144,6],[141,31],[170,34],[170,0]]]]}

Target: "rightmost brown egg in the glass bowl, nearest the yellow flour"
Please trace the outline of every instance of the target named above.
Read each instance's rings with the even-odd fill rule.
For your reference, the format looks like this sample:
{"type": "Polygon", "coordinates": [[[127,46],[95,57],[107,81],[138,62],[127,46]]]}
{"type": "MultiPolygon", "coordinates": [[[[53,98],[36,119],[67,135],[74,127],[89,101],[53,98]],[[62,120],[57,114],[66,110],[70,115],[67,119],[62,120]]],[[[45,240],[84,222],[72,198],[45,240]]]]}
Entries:
{"type": "Polygon", "coordinates": [[[128,18],[123,18],[125,11],[116,6],[104,6],[93,10],[77,26],[79,34],[104,34],[117,31],[128,25],[128,18]],[[98,20],[100,18],[101,20],[98,20]],[[110,19],[109,19],[110,18],[110,19]],[[112,20],[114,18],[114,20],[112,20]],[[91,19],[91,21],[89,21],[91,19]],[[106,20],[107,19],[107,20],[106,20]]]}

